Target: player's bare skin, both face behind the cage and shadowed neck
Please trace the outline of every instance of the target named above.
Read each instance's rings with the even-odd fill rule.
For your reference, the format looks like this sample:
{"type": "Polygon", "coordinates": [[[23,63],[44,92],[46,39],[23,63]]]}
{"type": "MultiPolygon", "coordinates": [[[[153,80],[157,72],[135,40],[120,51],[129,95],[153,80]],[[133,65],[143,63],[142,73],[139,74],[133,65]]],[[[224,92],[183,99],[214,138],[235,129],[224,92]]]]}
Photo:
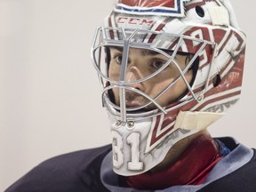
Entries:
{"type": "MultiPolygon", "coordinates": [[[[120,78],[120,70],[121,70],[121,62],[122,62],[122,50],[112,47],[110,48],[110,63],[108,68],[108,76],[114,80],[119,80],[120,78]]],[[[184,69],[186,64],[188,64],[186,55],[177,54],[174,58],[179,63],[180,69],[184,69]]],[[[127,70],[125,74],[125,81],[133,82],[135,80],[141,79],[142,77],[148,76],[154,73],[157,69],[161,68],[164,65],[168,58],[166,58],[163,54],[156,52],[145,52],[145,50],[131,48],[129,51],[127,70]]],[[[168,84],[170,84],[177,76],[180,76],[179,70],[171,64],[164,70],[148,79],[147,81],[141,82],[140,84],[132,84],[131,86],[141,92],[147,93],[151,98],[156,97],[156,95],[163,91],[168,84]]],[[[188,70],[185,74],[185,77],[188,83],[192,80],[193,72],[192,70],[188,70]]],[[[172,103],[174,100],[177,100],[180,95],[182,95],[187,90],[187,85],[184,83],[183,79],[180,78],[173,84],[173,86],[164,94],[159,97],[156,101],[162,107],[172,103]]],[[[113,90],[114,97],[116,101],[116,105],[120,104],[119,99],[119,91],[117,89],[113,90]]],[[[138,107],[148,103],[148,100],[141,96],[136,92],[126,91],[125,93],[125,101],[126,107],[138,107]]],[[[156,106],[154,104],[146,107],[147,110],[154,109],[156,106]]],[[[188,145],[195,140],[197,137],[209,134],[207,130],[203,130],[188,136],[187,138],[180,140],[177,142],[165,156],[164,161],[160,164],[157,164],[150,172],[158,172],[173,164],[182,152],[188,148],[188,145]]]]}

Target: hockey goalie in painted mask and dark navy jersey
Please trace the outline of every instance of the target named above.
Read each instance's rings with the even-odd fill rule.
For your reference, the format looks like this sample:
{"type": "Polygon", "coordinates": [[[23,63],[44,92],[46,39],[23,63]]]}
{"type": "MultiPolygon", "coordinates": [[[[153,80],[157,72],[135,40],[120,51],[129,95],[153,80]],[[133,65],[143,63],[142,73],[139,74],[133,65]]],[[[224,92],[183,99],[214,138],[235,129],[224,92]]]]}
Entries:
{"type": "Polygon", "coordinates": [[[228,0],[119,0],[92,44],[112,145],[7,191],[256,191],[255,150],[207,131],[239,100],[244,48],[228,0]]]}

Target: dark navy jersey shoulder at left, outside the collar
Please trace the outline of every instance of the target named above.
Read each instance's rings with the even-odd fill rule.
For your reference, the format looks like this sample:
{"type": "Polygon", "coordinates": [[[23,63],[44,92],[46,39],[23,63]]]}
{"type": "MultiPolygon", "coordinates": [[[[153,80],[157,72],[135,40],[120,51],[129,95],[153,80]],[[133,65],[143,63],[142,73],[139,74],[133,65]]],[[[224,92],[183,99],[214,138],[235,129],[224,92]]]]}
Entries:
{"type": "Polygon", "coordinates": [[[107,191],[100,182],[100,164],[111,146],[80,150],[52,157],[17,180],[12,191],[107,191]]]}

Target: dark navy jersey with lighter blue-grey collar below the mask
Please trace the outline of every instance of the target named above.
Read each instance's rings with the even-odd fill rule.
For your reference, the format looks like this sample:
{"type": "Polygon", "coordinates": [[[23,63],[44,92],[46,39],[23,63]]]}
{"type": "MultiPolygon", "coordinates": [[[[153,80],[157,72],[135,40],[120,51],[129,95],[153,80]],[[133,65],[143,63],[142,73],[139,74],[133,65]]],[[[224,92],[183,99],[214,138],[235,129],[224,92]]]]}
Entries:
{"type": "MultiPolygon", "coordinates": [[[[216,164],[200,185],[173,186],[156,192],[254,192],[256,191],[255,149],[231,138],[219,139],[231,152],[216,164]]],[[[76,151],[53,157],[17,180],[6,192],[152,192],[118,186],[112,171],[111,146],[76,151]]]]}

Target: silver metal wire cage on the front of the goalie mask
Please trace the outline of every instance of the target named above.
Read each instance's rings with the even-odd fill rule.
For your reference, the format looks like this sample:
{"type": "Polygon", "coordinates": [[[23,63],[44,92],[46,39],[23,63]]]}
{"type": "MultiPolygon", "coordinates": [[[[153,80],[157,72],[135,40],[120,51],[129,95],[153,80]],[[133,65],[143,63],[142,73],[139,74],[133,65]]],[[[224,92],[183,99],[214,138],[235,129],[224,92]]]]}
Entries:
{"type": "MultiPolygon", "coordinates": [[[[192,87],[190,86],[190,84],[188,83],[188,81],[186,80],[186,77],[184,75],[188,71],[188,68],[190,68],[192,66],[193,62],[196,60],[196,57],[198,57],[200,52],[202,52],[204,50],[204,47],[207,44],[211,44],[212,46],[214,46],[213,55],[212,55],[212,60],[213,60],[213,58],[215,57],[216,50],[217,50],[216,49],[216,47],[217,47],[216,44],[214,44],[211,41],[197,39],[197,38],[191,37],[191,36],[183,36],[183,35],[182,36],[178,36],[178,35],[172,35],[172,34],[167,34],[167,33],[161,32],[161,35],[160,36],[158,35],[159,36],[158,38],[156,37],[156,42],[157,42],[157,39],[159,39],[159,38],[161,38],[163,36],[172,36],[172,38],[173,37],[179,38],[179,41],[176,44],[176,46],[174,48],[174,51],[172,52],[172,56],[170,57],[170,55],[168,53],[166,53],[166,52],[164,52],[164,51],[162,51],[162,50],[152,46],[152,44],[131,42],[132,37],[135,36],[136,34],[138,34],[139,32],[156,34],[156,35],[160,34],[160,32],[155,32],[155,31],[152,32],[152,31],[149,31],[149,30],[140,30],[140,29],[103,28],[103,27],[97,29],[97,31],[95,33],[95,36],[93,37],[91,57],[92,57],[92,60],[93,60],[93,66],[98,71],[98,76],[100,77],[100,82],[102,84],[102,89],[103,89],[102,90],[102,94],[101,94],[102,102],[104,103],[104,101],[106,102],[108,100],[108,105],[112,106],[112,108],[116,108],[117,110],[120,110],[121,111],[121,121],[122,122],[126,122],[126,120],[127,120],[126,111],[139,110],[140,108],[145,108],[149,104],[152,104],[152,103],[154,105],[156,105],[156,107],[158,109],[160,109],[159,113],[162,112],[162,113],[166,114],[168,111],[171,110],[171,108],[168,108],[167,110],[165,110],[163,107],[161,107],[156,102],[156,99],[159,98],[161,95],[163,95],[164,92],[166,92],[170,87],[172,87],[172,85],[175,84],[180,79],[180,77],[183,79],[183,81],[185,82],[185,84],[188,87],[188,91],[192,95],[192,98],[190,98],[190,99],[188,98],[187,100],[194,99],[197,102],[199,102],[200,101],[200,99],[199,99],[200,96],[202,94],[204,94],[205,90],[207,90],[208,84],[210,82],[210,71],[211,71],[211,68],[212,68],[212,61],[211,61],[211,67],[209,69],[208,77],[207,77],[207,80],[206,80],[206,84],[204,85],[204,90],[203,91],[201,91],[199,93],[198,92],[197,93],[193,92],[192,87]],[[121,30],[122,34],[124,36],[124,40],[113,40],[113,39],[109,40],[108,37],[107,37],[108,36],[107,35],[107,31],[109,32],[109,30],[117,30],[119,32],[121,30]],[[126,31],[132,31],[132,35],[129,36],[128,38],[126,37],[126,33],[125,33],[126,31]],[[102,36],[99,37],[99,34],[101,34],[102,36]],[[96,45],[97,38],[99,38],[99,45],[96,45]],[[181,41],[184,40],[184,39],[196,41],[196,42],[203,43],[203,44],[200,46],[199,50],[196,52],[196,54],[194,55],[192,60],[189,61],[189,63],[187,64],[187,67],[184,68],[183,70],[181,70],[179,64],[177,63],[176,60],[173,60],[173,58],[177,54],[177,52],[178,52],[178,50],[180,48],[181,41]],[[101,72],[101,70],[100,70],[100,54],[101,54],[101,49],[104,48],[105,46],[120,46],[120,47],[124,47],[124,50],[123,50],[123,58],[124,59],[122,60],[122,69],[121,69],[120,81],[115,81],[113,79],[110,79],[108,76],[104,75],[101,72]],[[148,49],[148,50],[151,50],[151,51],[156,51],[156,52],[162,53],[164,56],[166,56],[167,58],[170,58],[170,59],[166,61],[166,63],[164,64],[164,66],[162,68],[160,68],[156,72],[152,73],[151,75],[143,77],[143,78],[141,78],[139,80],[136,80],[136,81],[124,82],[125,71],[126,71],[126,62],[128,60],[128,55],[129,55],[128,53],[129,53],[129,48],[130,47],[136,47],[136,48],[148,49]],[[99,54],[99,59],[98,59],[99,60],[99,62],[98,62],[99,64],[97,64],[97,59],[95,58],[96,57],[95,52],[97,52],[98,49],[100,49],[100,54],[99,54]],[[162,92],[158,93],[155,98],[152,99],[146,93],[140,92],[140,91],[138,91],[138,90],[128,86],[128,85],[131,85],[131,84],[140,84],[141,82],[147,81],[149,78],[151,78],[153,76],[156,76],[162,70],[164,70],[164,68],[166,68],[168,65],[170,65],[171,62],[173,62],[175,67],[178,68],[178,70],[180,72],[180,76],[175,78],[172,81],[172,83],[170,83],[167,87],[165,87],[162,92]],[[103,83],[104,79],[105,79],[105,81],[107,81],[109,83],[112,83],[112,84],[115,84],[115,85],[109,85],[108,87],[104,88],[104,83],[103,83]],[[120,91],[119,92],[120,93],[120,97],[121,97],[120,99],[122,100],[120,102],[120,105],[121,105],[120,107],[116,106],[116,104],[114,104],[113,102],[111,102],[111,100],[108,99],[108,96],[107,96],[108,90],[113,89],[113,88],[118,88],[119,91],[120,91]],[[147,98],[149,100],[149,102],[147,104],[141,106],[141,107],[126,108],[126,106],[125,106],[125,89],[131,90],[132,92],[139,93],[140,95],[142,95],[145,98],[147,98]],[[197,97],[197,95],[199,95],[199,97],[197,97]]],[[[156,109],[156,110],[158,110],[158,109],[156,109]]]]}

